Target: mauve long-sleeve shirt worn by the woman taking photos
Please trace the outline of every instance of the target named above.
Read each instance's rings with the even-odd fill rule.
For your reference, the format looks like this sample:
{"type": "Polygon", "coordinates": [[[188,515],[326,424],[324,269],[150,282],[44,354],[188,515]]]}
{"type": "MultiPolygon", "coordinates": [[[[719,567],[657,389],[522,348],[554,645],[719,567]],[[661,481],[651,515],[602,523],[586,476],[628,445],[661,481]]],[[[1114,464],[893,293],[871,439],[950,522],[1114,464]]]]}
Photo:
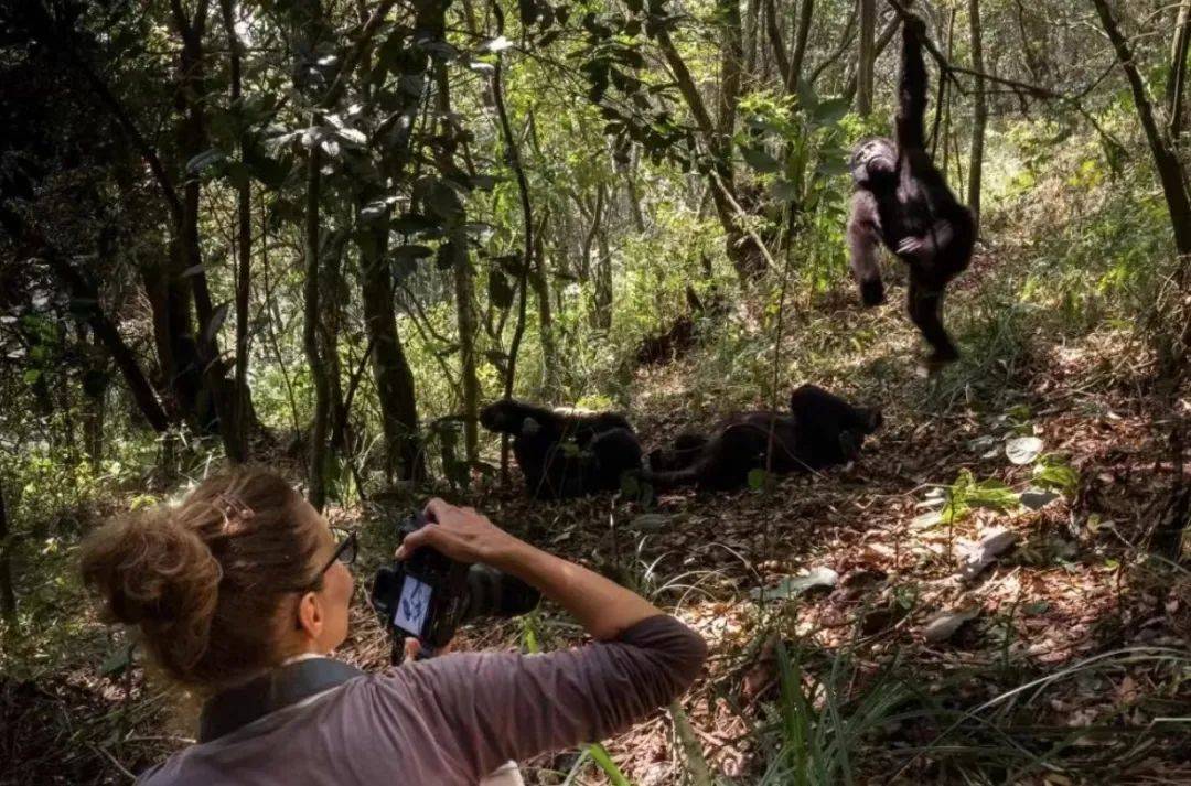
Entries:
{"type": "Polygon", "coordinates": [[[444,655],[270,712],[137,782],[474,785],[509,760],[628,729],[690,687],[706,654],[698,634],[661,615],[545,655],[444,655]]]}

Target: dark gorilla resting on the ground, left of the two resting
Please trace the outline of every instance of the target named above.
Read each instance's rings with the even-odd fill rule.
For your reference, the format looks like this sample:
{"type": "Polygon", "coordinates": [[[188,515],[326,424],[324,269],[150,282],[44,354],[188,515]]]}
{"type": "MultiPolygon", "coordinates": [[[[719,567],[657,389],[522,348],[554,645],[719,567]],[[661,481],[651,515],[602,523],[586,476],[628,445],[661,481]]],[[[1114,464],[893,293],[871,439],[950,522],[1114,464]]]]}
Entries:
{"type": "Polygon", "coordinates": [[[621,487],[641,469],[641,443],[615,412],[556,412],[516,400],[491,404],[480,424],[513,438],[525,491],[538,499],[566,499],[621,487]]]}

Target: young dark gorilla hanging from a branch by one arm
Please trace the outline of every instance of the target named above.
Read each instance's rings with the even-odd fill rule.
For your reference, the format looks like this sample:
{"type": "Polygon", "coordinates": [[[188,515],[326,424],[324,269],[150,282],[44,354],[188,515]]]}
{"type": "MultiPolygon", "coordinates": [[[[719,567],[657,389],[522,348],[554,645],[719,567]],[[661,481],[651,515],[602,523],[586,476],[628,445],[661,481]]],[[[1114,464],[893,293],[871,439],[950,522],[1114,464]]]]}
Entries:
{"type": "Polygon", "coordinates": [[[959,358],[943,328],[943,289],[972,258],[975,224],[925,150],[925,35],[922,19],[906,17],[894,119],[897,142],[868,139],[852,156],[856,191],[848,219],[848,245],[866,306],[885,300],[877,264],[879,242],[910,266],[910,319],[934,350],[928,364],[937,367],[959,358]]]}

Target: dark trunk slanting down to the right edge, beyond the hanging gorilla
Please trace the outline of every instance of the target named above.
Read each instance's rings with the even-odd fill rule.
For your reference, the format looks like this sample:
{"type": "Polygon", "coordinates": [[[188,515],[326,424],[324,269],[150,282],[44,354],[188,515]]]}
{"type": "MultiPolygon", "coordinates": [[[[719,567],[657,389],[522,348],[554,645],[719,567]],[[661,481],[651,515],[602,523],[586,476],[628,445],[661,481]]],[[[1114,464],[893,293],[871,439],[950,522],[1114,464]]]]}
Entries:
{"type": "Polygon", "coordinates": [[[1125,40],[1112,17],[1108,0],[1092,0],[1092,2],[1100,15],[1104,32],[1108,33],[1109,40],[1112,42],[1112,48],[1116,50],[1117,62],[1121,63],[1121,68],[1129,80],[1133,102],[1137,107],[1137,117],[1146,131],[1146,139],[1154,156],[1154,168],[1158,170],[1158,179],[1161,181],[1162,193],[1166,195],[1166,207],[1174,229],[1174,248],[1179,256],[1186,256],[1191,254],[1191,198],[1187,195],[1183,166],[1174,149],[1154,121],[1154,111],[1146,95],[1146,85],[1137,71],[1129,42],[1125,40]]]}

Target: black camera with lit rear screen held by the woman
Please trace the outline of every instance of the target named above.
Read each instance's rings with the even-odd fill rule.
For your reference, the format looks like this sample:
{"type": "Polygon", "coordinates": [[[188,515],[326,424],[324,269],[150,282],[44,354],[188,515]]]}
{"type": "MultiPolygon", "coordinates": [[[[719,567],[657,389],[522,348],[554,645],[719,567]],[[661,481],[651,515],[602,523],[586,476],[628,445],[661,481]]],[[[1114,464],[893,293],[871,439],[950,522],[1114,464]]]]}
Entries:
{"type": "MultiPolygon", "coordinates": [[[[414,513],[399,524],[398,536],[405,539],[429,523],[424,513],[414,513]]],[[[372,606],[394,644],[398,637],[413,636],[432,650],[445,647],[464,623],[517,617],[541,599],[542,593],[520,579],[485,564],[456,562],[426,545],[378,570],[372,591],[372,606]]]]}

